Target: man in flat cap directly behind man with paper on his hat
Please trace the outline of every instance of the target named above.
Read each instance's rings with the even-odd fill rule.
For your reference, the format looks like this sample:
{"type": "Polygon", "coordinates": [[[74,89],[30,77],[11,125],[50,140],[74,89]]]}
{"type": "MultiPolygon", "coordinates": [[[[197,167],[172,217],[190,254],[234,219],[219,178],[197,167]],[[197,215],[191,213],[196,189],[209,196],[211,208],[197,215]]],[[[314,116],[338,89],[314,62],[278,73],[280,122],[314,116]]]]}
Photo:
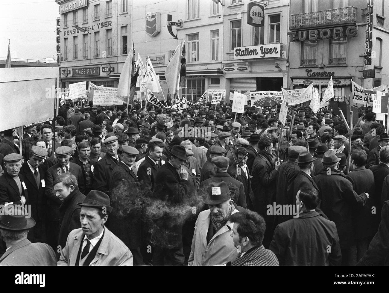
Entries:
{"type": "Polygon", "coordinates": [[[246,194],[243,183],[236,180],[235,178],[232,178],[230,174],[227,173],[228,167],[230,165],[230,159],[227,157],[213,157],[211,162],[214,164],[214,168],[216,170],[215,175],[201,183],[200,191],[206,191],[212,182],[230,182],[235,185],[239,191],[238,194],[235,194],[235,199],[237,199],[237,206],[247,208],[246,194]]]}

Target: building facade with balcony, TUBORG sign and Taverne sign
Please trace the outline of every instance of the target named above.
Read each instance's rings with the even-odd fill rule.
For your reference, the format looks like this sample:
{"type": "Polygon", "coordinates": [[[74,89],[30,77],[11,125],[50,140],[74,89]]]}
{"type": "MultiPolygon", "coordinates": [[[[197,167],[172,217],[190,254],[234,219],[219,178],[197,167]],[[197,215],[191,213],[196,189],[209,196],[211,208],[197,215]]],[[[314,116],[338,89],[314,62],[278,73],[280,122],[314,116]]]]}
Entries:
{"type": "Polygon", "coordinates": [[[364,88],[387,84],[389,60],[382,58],[389,42],[385,5],[384,0],[291,0],[288,83],[293,88],[313,84],[322,95],[332,76],[339,101],[351,96],[350,79],[364,88]],[[370,3],[373,22],[367,37],[370,3]]]}

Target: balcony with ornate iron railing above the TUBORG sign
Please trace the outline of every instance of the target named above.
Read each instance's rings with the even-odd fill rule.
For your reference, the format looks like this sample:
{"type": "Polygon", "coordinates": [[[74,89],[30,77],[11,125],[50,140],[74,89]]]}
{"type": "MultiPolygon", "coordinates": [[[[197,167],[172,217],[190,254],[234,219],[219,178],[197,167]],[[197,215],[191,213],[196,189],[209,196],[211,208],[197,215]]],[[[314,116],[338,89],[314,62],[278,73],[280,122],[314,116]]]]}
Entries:
{"type": "Polygon", "coordinates": [[[290,30],[333,25],[355,25],[357,8],[354,6],[291,15],[290,30]]]}

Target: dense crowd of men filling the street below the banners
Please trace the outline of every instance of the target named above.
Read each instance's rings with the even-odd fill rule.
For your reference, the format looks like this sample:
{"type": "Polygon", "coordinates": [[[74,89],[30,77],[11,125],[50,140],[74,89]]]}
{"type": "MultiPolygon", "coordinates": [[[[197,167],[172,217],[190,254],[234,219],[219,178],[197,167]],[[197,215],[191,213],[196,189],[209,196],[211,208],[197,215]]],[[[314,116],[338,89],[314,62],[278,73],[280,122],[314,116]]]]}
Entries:
{"type": "Polygon", "coordinates": [[[362,113],[350,140],[332,109],[67,102],[0,133],[0,265],[389,265],[389,135],[362,113]],[[203,205],[157,245],[134,195],[203,205]]]}

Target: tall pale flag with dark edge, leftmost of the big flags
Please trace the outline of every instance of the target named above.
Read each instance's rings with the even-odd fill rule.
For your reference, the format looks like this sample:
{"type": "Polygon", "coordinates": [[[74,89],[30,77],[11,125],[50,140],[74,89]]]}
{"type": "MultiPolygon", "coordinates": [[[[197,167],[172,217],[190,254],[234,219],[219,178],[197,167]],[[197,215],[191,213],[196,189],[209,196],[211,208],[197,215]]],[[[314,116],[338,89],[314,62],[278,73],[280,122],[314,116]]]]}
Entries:
{"type": "Polygon", "coordinates": [[[138,72],[135,68],[135,45],[132,42],[132,50],[127,55],[124,62],[122,72],[119,78],[119,85],[117,86],[117,97],[124,102],[131,103],[134,99],[135,85],[138,78],[138,72]],[[134,83],[135,81],[135,83],[134,83]],[[133,89],[131,89],[133,85],[133,89]]]}

